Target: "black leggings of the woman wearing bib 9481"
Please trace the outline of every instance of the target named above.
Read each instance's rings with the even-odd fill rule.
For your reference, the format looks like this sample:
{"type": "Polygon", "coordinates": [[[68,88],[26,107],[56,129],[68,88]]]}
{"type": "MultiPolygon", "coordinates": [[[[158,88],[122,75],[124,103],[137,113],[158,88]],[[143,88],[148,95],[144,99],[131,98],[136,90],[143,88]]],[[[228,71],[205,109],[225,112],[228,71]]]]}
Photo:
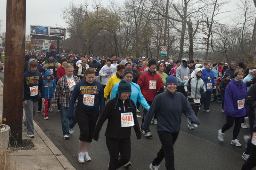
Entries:
{"type": "Polygon", "coordinates": [[[106,137],[106,144],[110,156],[108,170],[116,170],[129,162],[131,157],[131,139],[111,139],[106,137]],[[120,151],[121,159],[118,160],[120,151]]]}

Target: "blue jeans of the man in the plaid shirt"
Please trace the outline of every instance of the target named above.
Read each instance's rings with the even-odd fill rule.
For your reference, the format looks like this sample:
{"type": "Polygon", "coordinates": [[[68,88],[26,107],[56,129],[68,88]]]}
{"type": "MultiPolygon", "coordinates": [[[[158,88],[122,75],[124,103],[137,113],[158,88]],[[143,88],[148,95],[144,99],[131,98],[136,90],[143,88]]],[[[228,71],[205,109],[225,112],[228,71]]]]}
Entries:
{"type": "Polygon", "coordinates": [[[60,104],[60,118],[61,118],[63,135],[69,135],[68,128],[74,128],[76,124],[75,111],[76,111],[76,108],[74,107],[73,116],[71,120],[69,120],[69,124],[68,124],[68,107],[65,107],[60,104]]]}

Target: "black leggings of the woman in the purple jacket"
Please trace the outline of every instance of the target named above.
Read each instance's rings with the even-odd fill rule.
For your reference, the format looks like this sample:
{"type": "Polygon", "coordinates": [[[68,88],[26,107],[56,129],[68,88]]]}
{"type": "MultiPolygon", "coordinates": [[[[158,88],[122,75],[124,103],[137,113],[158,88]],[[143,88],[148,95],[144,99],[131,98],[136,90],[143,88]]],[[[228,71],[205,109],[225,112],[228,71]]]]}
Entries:
{"type": "Polygon", "coordinates": [[[222,127],[222,133],[225,133],[226,130],[231,128],[235,121],[235,126],[233,130],[233,140],[237,139],[237,136],[241,129],[241,123],[243,121],[244,116],[242,117],[232,117],[232,116],[226,116],[226,123],[222,127]]]}

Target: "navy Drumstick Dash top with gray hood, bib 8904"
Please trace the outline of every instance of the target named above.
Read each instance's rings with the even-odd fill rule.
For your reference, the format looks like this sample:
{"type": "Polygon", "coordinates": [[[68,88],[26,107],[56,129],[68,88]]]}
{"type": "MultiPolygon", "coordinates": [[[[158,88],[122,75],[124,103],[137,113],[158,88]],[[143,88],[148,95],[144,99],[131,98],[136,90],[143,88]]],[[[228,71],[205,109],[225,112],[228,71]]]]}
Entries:
{"type": "Polygon", "coordinates": [[[44,83],[41,73],[35,71],[32,73],[30,69],[31,61],[36,61],[31,59],[28,61],[28,71],[24,73],[24,97],[23,101],[25,100],[32,100],[33,102],[38,101],[39,91],[41,93],[41,97],[45,97],[44,93],[44,83]]]}

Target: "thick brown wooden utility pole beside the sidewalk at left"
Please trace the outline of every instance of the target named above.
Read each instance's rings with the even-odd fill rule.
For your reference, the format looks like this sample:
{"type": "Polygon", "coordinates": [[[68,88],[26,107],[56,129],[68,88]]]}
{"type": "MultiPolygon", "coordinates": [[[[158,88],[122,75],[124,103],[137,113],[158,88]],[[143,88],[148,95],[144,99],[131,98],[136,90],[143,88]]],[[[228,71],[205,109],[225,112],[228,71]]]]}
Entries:
{"type": "Polygon", "coordinates": [[[3,122],[11,128],[11,143],[22,142],[26,0],[6,0],[3,122]],[[18,61],[17,58],[20,58],[18,61]],[[21,61],[21,62],[20,62],[21,61]]]}

